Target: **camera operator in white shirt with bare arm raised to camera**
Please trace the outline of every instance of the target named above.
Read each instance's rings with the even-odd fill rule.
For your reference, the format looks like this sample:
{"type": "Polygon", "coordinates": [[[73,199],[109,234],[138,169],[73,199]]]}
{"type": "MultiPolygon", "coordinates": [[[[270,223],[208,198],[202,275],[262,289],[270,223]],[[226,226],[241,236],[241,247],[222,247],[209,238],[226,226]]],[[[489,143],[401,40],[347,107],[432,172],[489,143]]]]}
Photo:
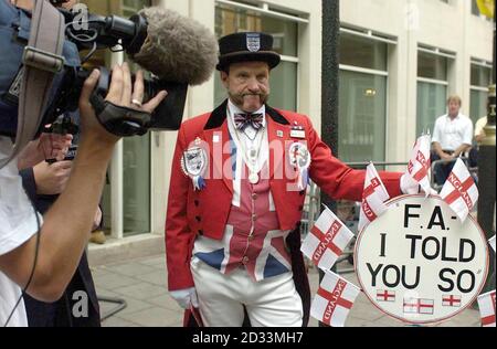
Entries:
{"type": "MultiPolygon", "coordinates": [[[[32,1],[19,0],[15,4],[31,10],[32,1]]],[[[21,288],[42,302],[60,299],[86,246],[106,169],[119,139],[103,128],[89,103],[98,77],[95,70],[85,81],[78,104],[82,129],[78,152],[65,190],[43,219],[22,189],[15,160],[20,167],[30,167],[36,163],[34,159],[61,156],[66,139],[43,135],[19,159],[0,169],[0,325],[27,325],[21,288]]],[[[141,73],[137,74],[133,86],[125,63],[114,67],[105,99],[119,107],[151,113],[166,94],[160,92],[142,106],[131,103],[142,101],[144,78],[141,73]]],[[[0,136],[0,160],[8,158],[11,150],[12,140],[0,136]]]]}

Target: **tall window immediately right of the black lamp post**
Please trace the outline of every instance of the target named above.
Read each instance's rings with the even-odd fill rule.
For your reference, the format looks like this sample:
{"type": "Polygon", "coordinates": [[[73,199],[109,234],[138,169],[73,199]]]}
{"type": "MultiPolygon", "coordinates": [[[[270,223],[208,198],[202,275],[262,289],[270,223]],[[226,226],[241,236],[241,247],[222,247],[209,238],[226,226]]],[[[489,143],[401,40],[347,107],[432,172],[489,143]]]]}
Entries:
{"type": "Polygon", "coordinates": [[[340,35],[340,159],[384,161],[388,43],[350,32],[340,35]]]}

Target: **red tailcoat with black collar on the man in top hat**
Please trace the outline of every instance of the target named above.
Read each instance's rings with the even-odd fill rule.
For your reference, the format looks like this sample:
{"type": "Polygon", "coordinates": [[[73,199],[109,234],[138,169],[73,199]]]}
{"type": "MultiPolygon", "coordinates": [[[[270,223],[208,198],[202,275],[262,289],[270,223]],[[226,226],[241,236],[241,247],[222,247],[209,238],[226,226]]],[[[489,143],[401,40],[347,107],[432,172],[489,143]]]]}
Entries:
{"type": "MultiPolygon", "coordinates": [[[[178,134],[171,167],[168,210],[166,220],[166,254],[169,290],[193,287],[190,260],[198,234],[222,240],[230,213],[233,183],[231,169],[230,135],[226,120],[228,101],[214,112],[184,121],[178,134]],[[183,152],[200,141],[207,145],[208,173],[205,188],[194,190],[192,179],[181,166],[183,152]]],[[[330,198],[361,201],[366,171],[353,170],[331,155],[319,138],[307,116],[266,106],[266,124],[269,142],[269,183],[282,230],[292,230],[287,243],[290,247],[295,276],[306,278],[299,251],[299,223],[303,214],[305,191],[288,190],[296,187],[295,176],[288,165],[289,145],[306,142],[311,156],[310,179],[330,198]],[[293,128],[302,127],[305,139],[293,138],[293,128]],[[274,147],[276,145],[276,147],[274,147]],[[283,173],[283,176],[282,176],[283,173]]],[[[401,173],[380,172],[391,198],[401,194],[401,173]]],[[[296,283],[297,286],[297,283],[296,283]]],[[[297,287],[298,288],[298,287],[297,287]]],[[[308,293],[307,279],[304,292],[308,293]]],[[[310,295],[302,295],[304,310],[308,314],[310,295]],[[307,308],[307,309],[306,309],[307,308]]],[[[306,324],[306,321],[304,322],[306,324]]]]}

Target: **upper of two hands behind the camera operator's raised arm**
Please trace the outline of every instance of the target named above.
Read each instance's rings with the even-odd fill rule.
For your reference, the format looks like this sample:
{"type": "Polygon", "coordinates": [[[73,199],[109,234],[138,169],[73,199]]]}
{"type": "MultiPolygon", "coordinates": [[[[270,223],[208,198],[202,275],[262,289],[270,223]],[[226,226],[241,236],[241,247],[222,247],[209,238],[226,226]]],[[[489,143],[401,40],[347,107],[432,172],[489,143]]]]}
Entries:
{"type": "Polygon", "coordinates": [[[72,140],[72,135],[41,134],[40,138],[30,141],[19,155],[19,170],[34,167],[45,159],[63,160],[72,140]]]}

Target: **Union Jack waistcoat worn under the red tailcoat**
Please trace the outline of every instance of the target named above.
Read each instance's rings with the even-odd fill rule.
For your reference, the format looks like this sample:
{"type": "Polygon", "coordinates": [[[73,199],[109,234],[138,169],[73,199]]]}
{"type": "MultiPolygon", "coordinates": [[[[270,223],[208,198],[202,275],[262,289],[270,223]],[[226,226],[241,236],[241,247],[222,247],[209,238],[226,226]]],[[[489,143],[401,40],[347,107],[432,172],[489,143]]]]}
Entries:
{"type": "MultiPolygon", "coordinates": [[[[266,167],[263,170],[267,170],[266,167]]],[[[269,180],[261,179],[251,184],[239,174],[233,181],[233,201],[223,240],[198,236],[193,254],[223,274],[245,267],[255,281],[292,271],[285,246],[289,232],[279,230],[269,180]]]]}

